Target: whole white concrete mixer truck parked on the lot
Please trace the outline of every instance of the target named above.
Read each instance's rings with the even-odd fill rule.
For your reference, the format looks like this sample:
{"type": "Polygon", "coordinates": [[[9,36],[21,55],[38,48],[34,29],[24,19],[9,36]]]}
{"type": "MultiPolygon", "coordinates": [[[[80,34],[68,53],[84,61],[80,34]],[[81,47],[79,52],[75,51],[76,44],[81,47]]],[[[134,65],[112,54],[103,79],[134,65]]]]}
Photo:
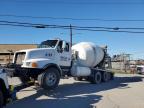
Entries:
{"type": "Polygon", "coordinates": [[[54,89],[60,78],[74,77],[94,84],[113,78],[110,57],[106,47],[91,42],[81,42],[71,47],[61,39],[41,42],[36,49],[17,51],[9,72],[25,83],[31,79],[38,81],[44,89],[54,89]]]}

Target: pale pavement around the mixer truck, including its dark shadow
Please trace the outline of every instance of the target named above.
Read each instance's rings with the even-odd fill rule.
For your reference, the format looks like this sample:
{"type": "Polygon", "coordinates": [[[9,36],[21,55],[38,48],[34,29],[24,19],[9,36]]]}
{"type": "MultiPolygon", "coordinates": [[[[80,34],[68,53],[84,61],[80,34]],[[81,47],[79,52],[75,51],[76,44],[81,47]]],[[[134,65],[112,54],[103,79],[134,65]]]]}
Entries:
{"type": "MultiPolygon", "coordinates": [[[[53,91],[30,86],[17,93],[6,108],[144,108],[144,76],[116,74],[101,84],[62,79],[53,91]]],[[[18,79],[9,80],[19,84],[18,79]]]]}

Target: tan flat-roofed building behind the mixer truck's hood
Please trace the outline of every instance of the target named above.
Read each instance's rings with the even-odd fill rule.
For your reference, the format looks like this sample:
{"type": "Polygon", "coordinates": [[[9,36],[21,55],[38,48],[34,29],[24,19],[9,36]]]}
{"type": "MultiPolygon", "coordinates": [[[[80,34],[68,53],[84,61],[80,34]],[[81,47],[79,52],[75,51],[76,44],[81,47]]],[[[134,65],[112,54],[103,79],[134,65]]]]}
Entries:
{"type": "Polygon", "coordinates": [[[0,64],[11,63],[15,51],[37,48],[37,44],[0,44],[0,64]]]}

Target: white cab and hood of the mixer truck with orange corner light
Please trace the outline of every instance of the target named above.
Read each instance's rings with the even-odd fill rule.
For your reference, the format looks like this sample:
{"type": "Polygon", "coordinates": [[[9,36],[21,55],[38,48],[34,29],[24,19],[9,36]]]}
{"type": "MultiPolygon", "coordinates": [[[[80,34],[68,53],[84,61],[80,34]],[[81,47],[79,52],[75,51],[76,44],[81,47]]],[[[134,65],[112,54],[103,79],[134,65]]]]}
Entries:
{"type": "Polygon", "coordinates": [[[13,63],[22,68],[42,69],[47,64],[71,66],[71,49],[68,42],[62,40],[47,40],[36,49],[21,50],[15,53],[13,63]]]}

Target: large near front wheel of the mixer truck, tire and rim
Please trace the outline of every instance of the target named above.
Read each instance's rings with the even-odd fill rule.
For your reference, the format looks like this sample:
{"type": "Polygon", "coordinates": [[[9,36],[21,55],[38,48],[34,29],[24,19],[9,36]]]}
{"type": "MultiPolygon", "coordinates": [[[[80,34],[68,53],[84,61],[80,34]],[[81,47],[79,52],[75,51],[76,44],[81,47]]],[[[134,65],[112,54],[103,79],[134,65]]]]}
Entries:
{"type": "Polygon", "coordinates": [[[56,68],[48,68],[39,76],[42,88],[46,90],[54,89],[60,81],[60,74],[56,68]]]}

